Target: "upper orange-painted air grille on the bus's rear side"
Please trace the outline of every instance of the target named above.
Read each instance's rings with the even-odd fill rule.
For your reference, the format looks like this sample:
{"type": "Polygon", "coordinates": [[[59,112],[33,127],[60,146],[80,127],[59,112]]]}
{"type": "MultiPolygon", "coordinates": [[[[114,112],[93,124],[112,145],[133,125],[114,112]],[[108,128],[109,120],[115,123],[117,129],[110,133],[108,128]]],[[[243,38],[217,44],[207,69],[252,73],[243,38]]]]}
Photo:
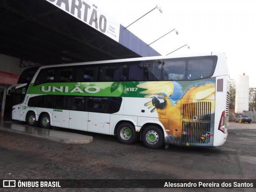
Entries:
{"type": "Polygon", "coordinates": [[[195,102],[183,104],[184,120],[211,120],[211,102],[195,102]]]}

